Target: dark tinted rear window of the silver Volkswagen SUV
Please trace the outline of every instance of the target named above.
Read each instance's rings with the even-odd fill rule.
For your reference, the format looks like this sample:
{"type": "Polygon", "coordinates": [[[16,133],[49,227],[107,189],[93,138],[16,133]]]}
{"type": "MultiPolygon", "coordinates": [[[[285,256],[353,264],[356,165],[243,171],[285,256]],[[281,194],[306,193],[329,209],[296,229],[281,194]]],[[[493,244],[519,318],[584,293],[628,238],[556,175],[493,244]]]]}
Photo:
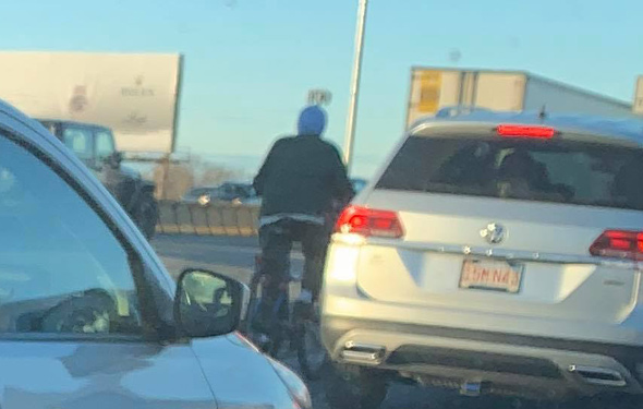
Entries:
{"type": "Polygon", "coordinates": [[[411,136],[376,189],[643,210],[643,152],[563,140],[411,136]]]}

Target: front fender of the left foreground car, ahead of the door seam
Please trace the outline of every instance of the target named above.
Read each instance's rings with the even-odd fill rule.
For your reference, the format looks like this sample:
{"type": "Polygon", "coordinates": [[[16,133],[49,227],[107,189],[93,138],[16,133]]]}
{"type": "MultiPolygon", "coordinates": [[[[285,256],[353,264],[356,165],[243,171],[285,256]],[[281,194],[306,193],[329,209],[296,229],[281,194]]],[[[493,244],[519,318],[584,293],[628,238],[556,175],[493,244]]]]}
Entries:
{"type": "Polygon", "coordinates": [[[292,398],[268,359],[238,334],[192,342],[218,409],[291,408],[292,398]]]}

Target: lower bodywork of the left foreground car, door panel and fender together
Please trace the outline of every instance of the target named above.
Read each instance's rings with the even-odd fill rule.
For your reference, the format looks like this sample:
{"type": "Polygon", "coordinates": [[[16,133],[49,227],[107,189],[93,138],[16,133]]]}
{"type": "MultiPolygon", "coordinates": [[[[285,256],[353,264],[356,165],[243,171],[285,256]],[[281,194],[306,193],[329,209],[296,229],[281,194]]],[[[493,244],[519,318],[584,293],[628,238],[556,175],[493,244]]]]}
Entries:
{"type": "Polygon", "coordinates": [[[190,344],[0,340],[2,409],[292,408],[241,337],[190,344]]]}

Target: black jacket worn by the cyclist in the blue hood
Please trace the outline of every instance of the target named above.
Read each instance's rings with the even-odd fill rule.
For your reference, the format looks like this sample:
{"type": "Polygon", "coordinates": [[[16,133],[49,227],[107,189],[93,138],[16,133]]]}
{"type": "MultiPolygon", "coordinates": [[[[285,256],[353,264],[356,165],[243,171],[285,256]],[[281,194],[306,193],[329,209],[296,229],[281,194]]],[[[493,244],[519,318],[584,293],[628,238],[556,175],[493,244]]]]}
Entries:
{"type": "Polygon", "coordinates": [[[272,145],[254,180],[262,216],[323,215],[353,189],[337,148],[318,136],[283,137],[272,145]]]}

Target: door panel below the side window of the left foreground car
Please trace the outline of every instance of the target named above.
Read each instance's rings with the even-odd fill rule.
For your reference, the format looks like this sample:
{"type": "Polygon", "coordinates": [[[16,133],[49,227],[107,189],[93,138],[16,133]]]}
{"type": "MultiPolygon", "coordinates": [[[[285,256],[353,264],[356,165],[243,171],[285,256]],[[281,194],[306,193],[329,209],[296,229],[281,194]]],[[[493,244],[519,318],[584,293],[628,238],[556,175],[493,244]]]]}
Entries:
{"type": "Polygon", "coordinates": [[[189,345],[19,339],[0,340],[2,409],[215,407],[189,345]]]}

